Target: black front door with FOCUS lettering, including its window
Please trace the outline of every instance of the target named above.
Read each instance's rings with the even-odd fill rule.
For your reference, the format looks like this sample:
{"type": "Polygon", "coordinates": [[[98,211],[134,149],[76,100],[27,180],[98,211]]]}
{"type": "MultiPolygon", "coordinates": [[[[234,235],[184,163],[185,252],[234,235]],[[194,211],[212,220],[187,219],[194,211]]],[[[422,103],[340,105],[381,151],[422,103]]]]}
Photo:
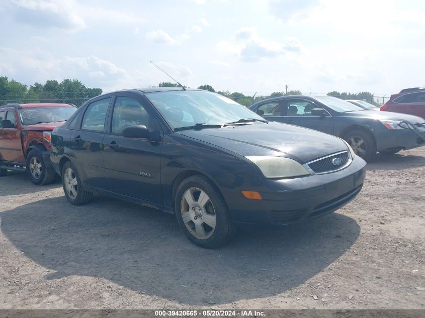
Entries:
{"type": "Polygon", "coordinates": [[[139,96],[117,94],[104,139],[108,190],[153,203],[162,203],[160,128],[149,105],[139,96]],[[152,138],[121,135],[131,125],[145,125],[152,138]]]}

